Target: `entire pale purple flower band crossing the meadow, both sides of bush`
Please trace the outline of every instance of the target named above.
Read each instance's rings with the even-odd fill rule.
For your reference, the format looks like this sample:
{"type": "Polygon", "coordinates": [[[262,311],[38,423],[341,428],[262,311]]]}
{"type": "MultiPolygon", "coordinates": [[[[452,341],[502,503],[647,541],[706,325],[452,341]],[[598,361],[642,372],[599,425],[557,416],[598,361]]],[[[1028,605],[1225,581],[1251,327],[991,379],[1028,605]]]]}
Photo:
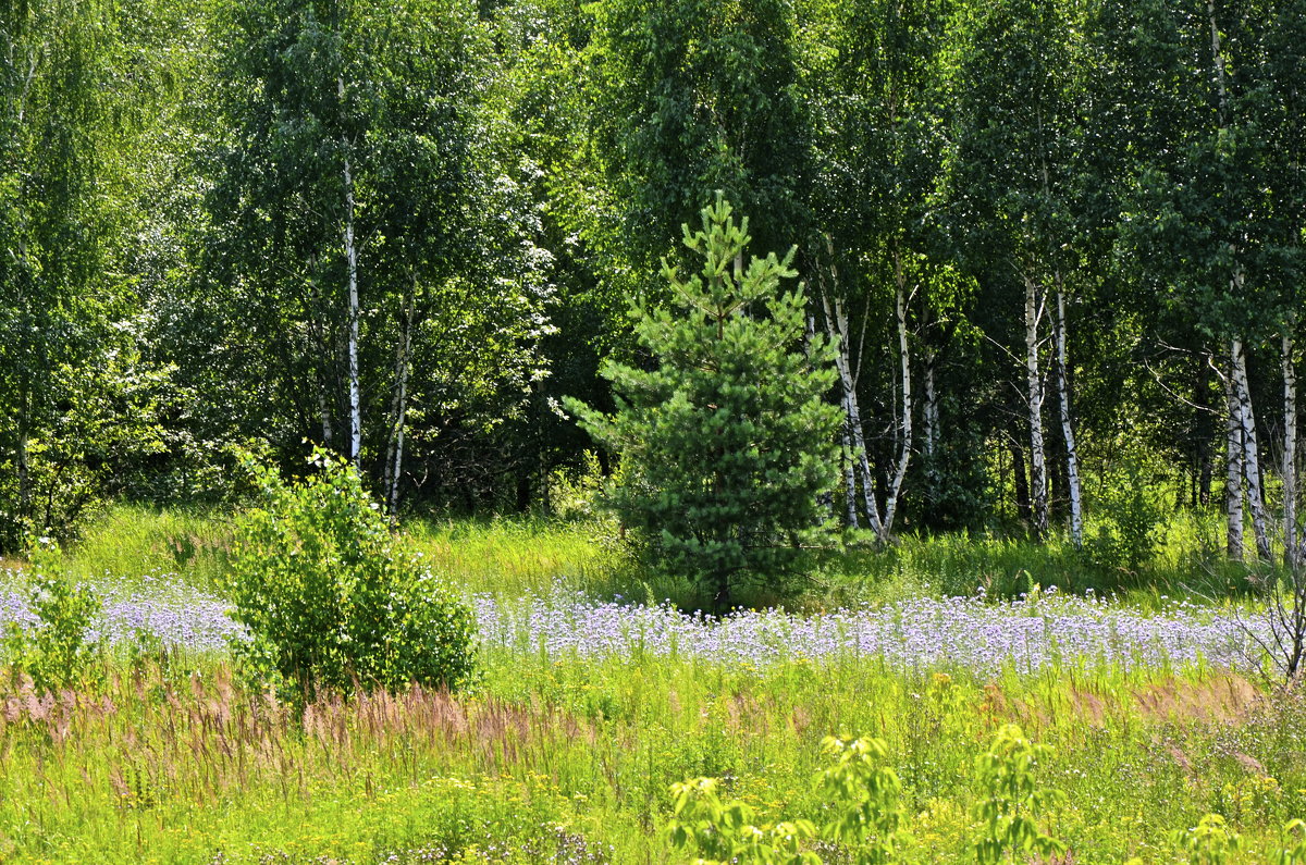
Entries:
{"type": "MultiPolygon", "coordinates": [[[[0,589],[0,627],[31,625],[16,575],[0,589]]],[[[104,610],[93,638],[120,644],[149,634],[165,645],[222,653],[244,631],[221,597],[151,574],[129,587],[98,589],[104,610]]],[[[1260,664],[1249,621],[1191,601],[1143,612],[1114,598],[1064,596],[1055,588],[1015,601],[916,597],[891,605],[795,615],[738,612],[722,619],[670,604],[596,601],[581,593],[496,598],[471,605],[482,645],[549,660],[658,657],[767,668],[791,661],[870,662],[880,669],[1033,674],[1050,665],[1174,669],[1196,665],[1247,672],[1260,664]]],[[[1250,619],[1256,627],[1259,619],[1250,619]]]]}

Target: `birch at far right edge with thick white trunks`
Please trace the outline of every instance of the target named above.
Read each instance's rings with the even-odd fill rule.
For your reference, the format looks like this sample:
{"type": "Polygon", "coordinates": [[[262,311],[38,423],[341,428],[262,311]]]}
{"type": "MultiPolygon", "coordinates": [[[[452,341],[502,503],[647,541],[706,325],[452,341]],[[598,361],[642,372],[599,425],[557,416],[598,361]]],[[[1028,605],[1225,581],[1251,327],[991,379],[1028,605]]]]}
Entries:
{"type": "MultiPolygon", "coordinates": [[[[1292,30],[1294,25],[1286,7],[1281,21],[1276,9],[1276,4],[1216,0],[1173,4],[1134,37],[1148,46],[1155,89],[1170,101],[1168,114],[1179,119],[1173,127],[1174,145],[1148,157],[1139,179],[1139,206],[1126,214],[1126,226],[1149,259],[1147,267],[1165,274],[1169,303],[1221,358],[1226,551],[1232,559],[1243,555],[1245,507],[1258,558],[1269,559],[1273,553],[1263,485],[1268,466],[1262,460],[1258,423],[1258,402],[1264,397],[1254,392],[1251,374],[1259,351],[1279,355],[1275,366],[1288,374],[1284,404],[1296,401],[1292,365],[1282,365],[1284,346],[1290,355],[1293,342],[1289,323],[1296,289],[1285,291],[1284,286],[1293,284],[1292,267],[1285,265],[1294,257],[1296,235],[1289,227],[1293,217],[1280,220],[1292,208],[1275,200],[1276,188],[1286,192],[1294,183],[1293,142],[1282,132],[1288,128],[1284,106],[1292,97],[1281,90],[1277,98],[1269,95],[1285,76],[1269,72],[1266,51],[1280,38],[1280,26],[1292,30]],[[1267,115],[1267,106],[1277,107],[1267,115]],[[1279,139],[1273,146],[1267,133],[1276,124],[1280,132],[1273,133],[1279,139]],[[1166,256],[1156,257],[1162,246],[1166,256]],[[1175,250],[1182,252],[1175,255],[1175,250]]],[[[1285,451],[1296,451],[1294,427],[1296,417],[1285,419],[1285,451]]],[[[1285,480],[1293,474],[1284,472],[1285,480]]]]}

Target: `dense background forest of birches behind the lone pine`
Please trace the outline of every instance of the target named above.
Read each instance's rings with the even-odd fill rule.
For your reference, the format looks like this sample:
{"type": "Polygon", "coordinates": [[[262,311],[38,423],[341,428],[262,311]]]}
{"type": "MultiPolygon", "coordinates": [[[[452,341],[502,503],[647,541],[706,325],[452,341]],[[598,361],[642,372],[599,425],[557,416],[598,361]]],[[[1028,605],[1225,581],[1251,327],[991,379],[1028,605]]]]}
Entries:
{"type": "Polygon", "coordinates": [[[1281,555],[1303,51],[1306,0],[0,0],[0,551],[306,439],[549,507],[720,189],[840,338],[845,521],[1281,555]]]}

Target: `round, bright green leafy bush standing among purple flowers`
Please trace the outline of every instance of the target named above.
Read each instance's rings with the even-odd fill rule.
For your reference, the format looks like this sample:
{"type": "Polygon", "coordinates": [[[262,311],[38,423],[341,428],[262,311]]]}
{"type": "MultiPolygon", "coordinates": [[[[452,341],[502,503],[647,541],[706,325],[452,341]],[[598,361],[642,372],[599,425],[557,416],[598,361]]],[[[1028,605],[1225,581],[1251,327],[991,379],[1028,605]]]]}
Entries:
{"type": "Polygon", "coordinates": [[[358,472],[321,452],[293,485],[249,465],[263,506],[238,520],[226,587],[253,638],[235,647],[243,668],[296,702],[466,685],[471,612],[396,545],[358,472]]]}

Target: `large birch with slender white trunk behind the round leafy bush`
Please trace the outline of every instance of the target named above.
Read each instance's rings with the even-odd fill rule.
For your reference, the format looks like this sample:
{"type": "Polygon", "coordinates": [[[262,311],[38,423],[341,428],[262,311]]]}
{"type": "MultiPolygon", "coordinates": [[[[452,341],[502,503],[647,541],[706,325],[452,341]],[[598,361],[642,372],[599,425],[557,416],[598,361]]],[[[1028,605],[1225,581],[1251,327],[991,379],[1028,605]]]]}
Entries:
{"type": "Polygon", "coordinates": [[[274,438],[338,448],[393,511],[431,476],[406,476],[414,446],[479,435],[541,372],[543,259],[492,129],[488,29],[461,0],[247,0],[225,31],[206,276],[277,384],[274,438]]]}

